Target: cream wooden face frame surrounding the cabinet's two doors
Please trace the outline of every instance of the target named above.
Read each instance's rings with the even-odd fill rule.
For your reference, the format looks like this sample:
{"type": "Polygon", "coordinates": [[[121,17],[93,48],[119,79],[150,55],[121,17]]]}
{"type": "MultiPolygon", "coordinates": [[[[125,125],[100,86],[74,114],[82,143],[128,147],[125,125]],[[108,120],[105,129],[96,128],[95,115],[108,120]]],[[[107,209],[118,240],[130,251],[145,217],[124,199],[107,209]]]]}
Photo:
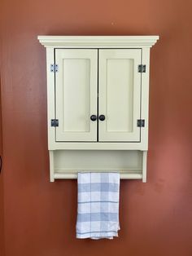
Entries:
{"type": "MultiPolygon", "coordinates": [[[[68,49],[68,47],[62,49],[68,49]]],[[[55,63],[55,49],[53,47],[46,48],[46,66],[47,66],[47,118],[48,118],[48,147],[50,150],[56,149],[148,149],[148,107],[149,107],[149,64],[150,64],[150,48],[142,48],[142,64],[146,64],[146,72],[142,73],[142,94],[141,94],[141,119],[145,120],[145,127],[140,130],[141,140],[139,142],[56,142],[56,129],[50,127],[50,120],[55,119],[55,73],[50,72],[50,64],[55,63]]],[[[72,48],[73,49],[73,48],[72,48]]],[[[81,49],[81,47],[79,47],[81,49]]],[[[84,49],[84,48],[83,48],[84,49]]],[[[88,49],[93,49],[92,47],[88,49]]],[[[94,48],[95,49],[95,48],[94,48]]],[[[100,49],[100,48],[99,48],[100,49]]],[[[103,48],[106,49],[106,48],[103,48]]],[[[108,49],[108,48],[107,48],[108,49]]],[[[116,49],[111,48],[111,49],[116,49]]],[[[122,47],[121,49],[124,49],[122,47]]],[[[126,48],[129,50],[129,48],[126,48]]],[[[135,48],[137,49],[137,48],[135,48]]]]}

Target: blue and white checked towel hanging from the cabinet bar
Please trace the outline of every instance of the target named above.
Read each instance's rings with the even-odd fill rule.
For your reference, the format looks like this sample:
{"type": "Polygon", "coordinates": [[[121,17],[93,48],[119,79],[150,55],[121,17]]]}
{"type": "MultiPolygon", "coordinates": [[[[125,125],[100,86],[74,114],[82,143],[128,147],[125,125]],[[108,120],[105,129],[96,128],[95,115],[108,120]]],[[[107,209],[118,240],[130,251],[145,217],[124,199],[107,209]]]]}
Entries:
{"type": "Polygon", "coordinates": [[[119,173],[78,173],[76,238],[118,236],[119,173]]]}

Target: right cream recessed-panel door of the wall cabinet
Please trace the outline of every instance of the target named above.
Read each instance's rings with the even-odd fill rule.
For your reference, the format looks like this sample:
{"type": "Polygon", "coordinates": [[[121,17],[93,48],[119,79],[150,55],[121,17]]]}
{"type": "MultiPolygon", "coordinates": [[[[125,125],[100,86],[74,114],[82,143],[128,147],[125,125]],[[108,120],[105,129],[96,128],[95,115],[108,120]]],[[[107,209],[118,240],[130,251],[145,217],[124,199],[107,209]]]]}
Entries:
{"type": "Polygon", "coordinates": [[[139,142],[141,49],[99,50],[99,141],[139,142]]]}

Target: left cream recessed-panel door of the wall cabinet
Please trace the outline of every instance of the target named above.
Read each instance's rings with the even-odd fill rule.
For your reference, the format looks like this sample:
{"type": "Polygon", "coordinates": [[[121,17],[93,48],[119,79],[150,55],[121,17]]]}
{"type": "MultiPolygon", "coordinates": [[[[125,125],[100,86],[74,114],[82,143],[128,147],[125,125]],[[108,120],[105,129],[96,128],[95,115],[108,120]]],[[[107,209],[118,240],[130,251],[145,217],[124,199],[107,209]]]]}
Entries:
{"type": "Polygon", "coordinates": [[[97,140],[98,51],[56,49],[55,64],[56,141],[97,140]]]}

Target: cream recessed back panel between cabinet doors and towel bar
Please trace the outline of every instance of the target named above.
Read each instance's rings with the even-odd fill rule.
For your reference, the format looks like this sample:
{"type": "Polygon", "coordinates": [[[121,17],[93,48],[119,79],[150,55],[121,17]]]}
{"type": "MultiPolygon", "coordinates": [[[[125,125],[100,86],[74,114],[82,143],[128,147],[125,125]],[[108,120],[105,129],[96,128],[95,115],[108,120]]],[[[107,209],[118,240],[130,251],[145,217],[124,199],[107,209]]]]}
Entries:
{"type": "Polygon", "coordinates": [[[57,150],[55,170],[142,170],[142,151],[57,150]]]}

